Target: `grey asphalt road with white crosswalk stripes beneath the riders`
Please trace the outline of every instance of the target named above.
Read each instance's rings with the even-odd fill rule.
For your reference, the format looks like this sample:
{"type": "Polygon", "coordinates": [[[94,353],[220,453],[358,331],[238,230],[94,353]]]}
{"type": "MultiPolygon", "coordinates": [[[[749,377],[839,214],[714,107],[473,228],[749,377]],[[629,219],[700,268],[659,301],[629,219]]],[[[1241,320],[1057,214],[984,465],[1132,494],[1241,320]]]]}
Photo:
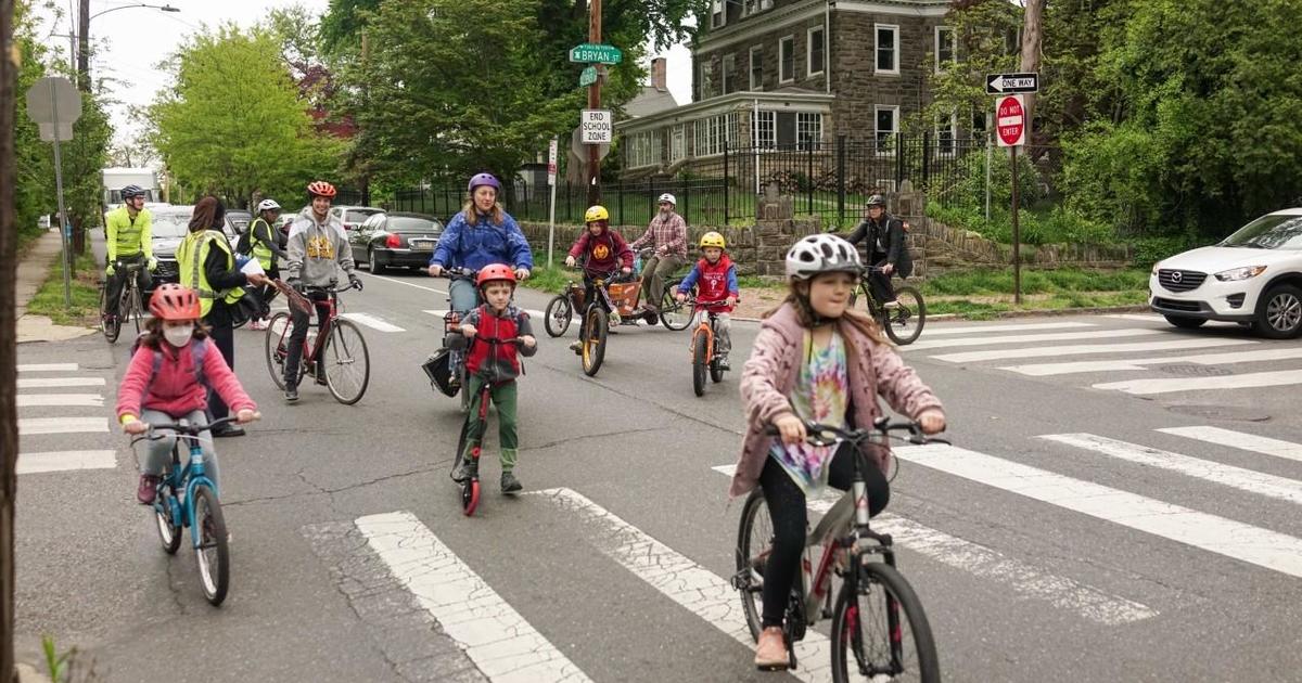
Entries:
{"type": "MultiPolygon", "coordinates": [[[[736,372],[697,398],[687,333],[639,327],[611,338],[589,379],[566,350],[577,325],[549,340],[535,320],[542,347],[519,381],[526,494],[499,496],[490,429],[486,496],[467,519],[447,476],[462,418],[418,367],[437,345],[426,311],[445,308],[445,281],[363,277],[345,295],[371,359],[355,406],[306,385],[284,405],[263,336],[237,332],[236,369],[264,420],[217,442],[233,535],[220,609],[193,553],[159,548],[126,440],[108,431],[128,341],[20,349],[22,366],[77,364],[23,379],[90,382],[21,394],[103,401],[22,407],[49,429],[83,418],[99,431],[27,423],[20,462],[112,451],[105,467],[20,476],[25,658],[49,634],[103,680],[789,675],[753,670],[738,600],[721,588],[741,501],[713,467],[740,449],[736,372]]],[[[518,301],[542,310],[547,297],[518,301]]],[[[756,330],[734,324],[738,369],[756,330]]],[[[1302,343],[1078,316],[937,321],[904,354],[945,402],[954,448],[902,449],[880,522],[948,680],[1298,679],[1302,343]],[[1121,359],[1143,363],[1061,366],[1121,359]]],[[[824,661],[806,663],[797,675],[827,679],[824,661]]]]}

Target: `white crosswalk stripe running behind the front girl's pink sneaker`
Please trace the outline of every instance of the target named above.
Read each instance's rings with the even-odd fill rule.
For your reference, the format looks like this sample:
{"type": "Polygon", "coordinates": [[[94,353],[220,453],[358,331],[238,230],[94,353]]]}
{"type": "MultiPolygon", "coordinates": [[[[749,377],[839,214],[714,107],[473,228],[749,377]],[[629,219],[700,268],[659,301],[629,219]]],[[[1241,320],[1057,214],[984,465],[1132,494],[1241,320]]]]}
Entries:
{"type": "MultiPolygon", "coordinates": [[[[661,595],[710,622],[737,643],[754,648],[750,628],[741,611],[741,595],[728,580],[652,539],[582,493],[566,488],[531,492],[562,510],[578,513],[602,528],[595,545],[661,595]]],[[[810,630],[796,644],[799,669],[788,671],[801,680],[832,680],[832,654],[827,636],[810,630]]]]}

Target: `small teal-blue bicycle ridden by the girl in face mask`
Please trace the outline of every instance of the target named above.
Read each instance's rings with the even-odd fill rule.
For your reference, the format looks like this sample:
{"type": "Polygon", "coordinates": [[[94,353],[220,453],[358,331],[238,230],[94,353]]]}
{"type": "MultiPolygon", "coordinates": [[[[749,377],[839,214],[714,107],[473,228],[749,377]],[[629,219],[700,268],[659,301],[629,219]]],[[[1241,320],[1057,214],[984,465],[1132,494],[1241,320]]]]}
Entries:
{"type": "Polygon", "coordinates": [[[134,448],[145,440],[156,441],[173,436],[156,433],[160,429],[174,432],[172,463],[163,472],[158,496],[154,498],[154,520],[163,550],[169,556],[181,548],[181,529],[190,529],[203,597],[214,606],[227,598],[227,591],[230,588],[230,546],[227,520],[217,501],[217,484],[203,471],[203,446],[199,435],[233,422],[234,416],[212,420],[208,424],[190,424],[189,420],[150,424],[150,431],[145,436],[132,440],[134,448]],[[189,442],[190,449],[190,459],[184,466],[180,455],[182,440],[189,442]]]}

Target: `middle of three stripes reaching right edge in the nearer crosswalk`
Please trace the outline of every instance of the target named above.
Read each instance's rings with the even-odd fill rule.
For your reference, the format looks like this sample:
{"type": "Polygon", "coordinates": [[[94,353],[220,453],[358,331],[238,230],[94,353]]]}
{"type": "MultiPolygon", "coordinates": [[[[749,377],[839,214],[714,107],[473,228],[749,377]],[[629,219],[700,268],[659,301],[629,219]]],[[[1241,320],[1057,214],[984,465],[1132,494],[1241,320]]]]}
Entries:
{"type": "Polygon", "coordinates": [[[1275,476],[1266,472],[1256,472],[1232,464],[1221,464],[1213,461],[1191,458],[1159,450],[1137,444],[1128,444],[1104,436],[1075,433],[1075,435],[1044,435],[1040,438],[1066,444],[1094,453],[1101,453],[1112,458],[1128,461],[1148,467],[1160,467],[1186,476],[1233,487],[1249,493],[1259,493],[1271,498],[1302,503],[1302,481],[1275,476]]]}

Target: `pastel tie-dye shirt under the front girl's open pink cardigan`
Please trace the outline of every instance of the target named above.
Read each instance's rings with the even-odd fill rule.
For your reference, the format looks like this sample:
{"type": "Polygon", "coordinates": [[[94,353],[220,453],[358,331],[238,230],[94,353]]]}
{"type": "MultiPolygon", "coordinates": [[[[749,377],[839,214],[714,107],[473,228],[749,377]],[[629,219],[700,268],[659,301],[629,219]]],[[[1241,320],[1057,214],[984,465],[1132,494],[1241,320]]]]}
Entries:
{"type": "MultiPolygon", "coordinates": [[[[846,373],[845,342],[841,334],[833,332],[832,340],[823,350],[814,349],[814,336],[805,333],[805,355],[807,362],[801,366],[801,373],[792,389],[792,407],[796,416],[805,422],[818,422],[845,427],[845,414],[850,402],[850,386],[846,373]]],[[[818,492],[827,485],[828,463],[836,453],[836,446],[814,446],[810,444],[784,445],[773,438],[768,455],[786,470],[796,485],[805,492],[818,492]]]]}

